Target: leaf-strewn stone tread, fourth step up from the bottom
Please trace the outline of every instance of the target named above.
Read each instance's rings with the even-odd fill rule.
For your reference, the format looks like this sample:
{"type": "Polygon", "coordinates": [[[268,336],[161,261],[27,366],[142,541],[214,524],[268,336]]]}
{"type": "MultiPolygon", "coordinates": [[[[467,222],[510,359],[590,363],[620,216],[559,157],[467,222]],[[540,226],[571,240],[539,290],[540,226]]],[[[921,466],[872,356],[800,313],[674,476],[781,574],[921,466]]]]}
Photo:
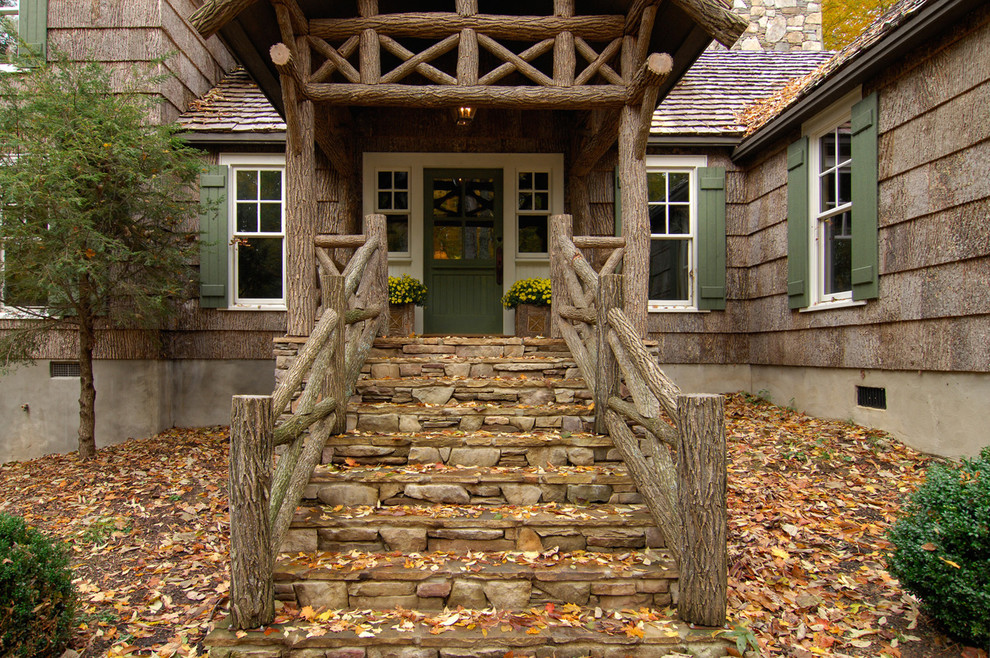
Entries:
{"type": "Polygon", "coordinates": [[[436,464],[403,467],[317,466],[310,486],[341,482],[366,484],[594,484],[632,485],[624,466],[535,467],[438,467],[436,464]],[[418,468],[417,468],[418,466],[418,468]]]}

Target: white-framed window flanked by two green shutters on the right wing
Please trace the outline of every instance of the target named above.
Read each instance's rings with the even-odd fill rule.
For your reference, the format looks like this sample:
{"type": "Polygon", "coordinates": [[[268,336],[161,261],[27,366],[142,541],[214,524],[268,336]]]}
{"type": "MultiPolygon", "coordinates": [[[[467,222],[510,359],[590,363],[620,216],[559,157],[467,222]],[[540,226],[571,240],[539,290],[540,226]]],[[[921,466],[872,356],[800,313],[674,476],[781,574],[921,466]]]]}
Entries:
{"type": "Polygon", "coordinates": [[[847,120],[811,140],[814,302],[852,299],[852,132],[847,120]]]}

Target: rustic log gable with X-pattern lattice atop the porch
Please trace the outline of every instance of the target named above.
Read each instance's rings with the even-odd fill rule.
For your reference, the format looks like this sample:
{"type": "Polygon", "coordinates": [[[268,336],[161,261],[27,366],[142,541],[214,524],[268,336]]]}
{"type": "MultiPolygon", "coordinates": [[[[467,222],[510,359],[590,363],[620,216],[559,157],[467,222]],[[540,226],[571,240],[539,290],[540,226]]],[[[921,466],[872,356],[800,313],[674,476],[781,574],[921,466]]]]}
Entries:
{"type": "Polygon", "coordinates": [[[208,0],[192,21],[220,35],[282,116],[280,74],[301,97],[338,106],[618,108],[639,105],[649,85],[655,107],[713,38],[730,45],[745,27],[724,0],[478,4],[208,0]],[[641,30],[638,61],[667,53],[669,73],[624,70],[623,37],[641,30]]]}

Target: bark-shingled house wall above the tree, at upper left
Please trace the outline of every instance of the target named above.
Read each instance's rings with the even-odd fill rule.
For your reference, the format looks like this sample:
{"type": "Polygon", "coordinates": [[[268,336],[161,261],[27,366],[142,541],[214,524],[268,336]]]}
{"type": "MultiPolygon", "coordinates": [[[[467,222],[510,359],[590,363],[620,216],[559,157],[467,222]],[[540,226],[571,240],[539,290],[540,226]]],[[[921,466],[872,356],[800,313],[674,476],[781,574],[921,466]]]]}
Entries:
{"type": "Polygon", "coordinates": [[[158,117],[174,121],[189,102],[215,85],[235,62],[216,37],[204,40],[187,18],[198,3],[193,0],[49,0],[50,48],[77,61],[109,66],[118,84],[133,76],[133,67],[168,56],[164,70],[171,73],[149,91],[164,102],[158,117]]]}

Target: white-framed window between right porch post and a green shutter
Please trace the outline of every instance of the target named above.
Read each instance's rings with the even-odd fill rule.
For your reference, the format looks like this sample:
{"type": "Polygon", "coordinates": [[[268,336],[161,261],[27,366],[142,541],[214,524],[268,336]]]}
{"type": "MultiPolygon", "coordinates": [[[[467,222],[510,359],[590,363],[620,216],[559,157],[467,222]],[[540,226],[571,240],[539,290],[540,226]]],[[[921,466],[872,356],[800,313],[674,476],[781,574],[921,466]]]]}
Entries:
{"type": "Polygon", "coordinates": [[[652,308],[694,305],[694,171],[648,171],[649,300],[652,308]]]}

